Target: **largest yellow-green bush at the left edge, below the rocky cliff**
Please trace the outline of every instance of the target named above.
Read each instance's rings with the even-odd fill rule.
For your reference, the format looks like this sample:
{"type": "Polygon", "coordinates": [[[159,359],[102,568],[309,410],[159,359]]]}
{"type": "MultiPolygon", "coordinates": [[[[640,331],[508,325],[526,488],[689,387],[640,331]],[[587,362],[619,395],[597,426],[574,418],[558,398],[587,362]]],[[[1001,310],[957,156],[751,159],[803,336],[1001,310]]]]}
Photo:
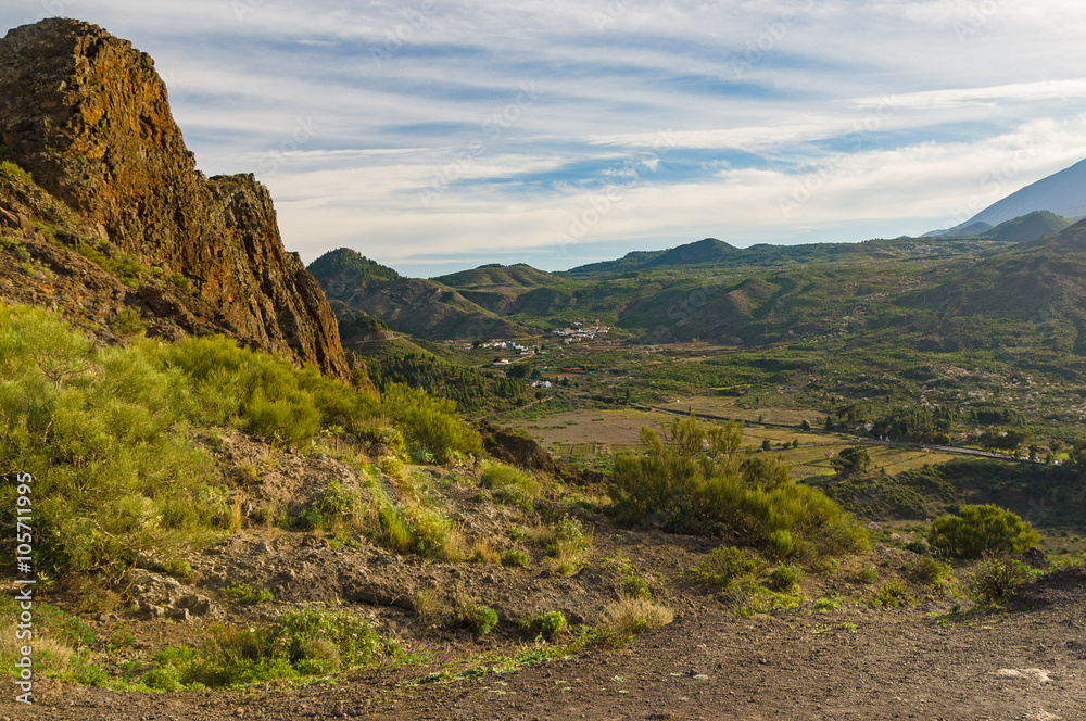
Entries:
{"type": "MultiPolygon", "coordinates": [[[[191,394],[157,347],[96,350],[53,314],[0,306],[0,476],[34,478],[39,571],[116,575],[225,519],[210,458],[186,435],[191,394]]],[[[16,490],[0,486],[12,528],[16,490]]]]}

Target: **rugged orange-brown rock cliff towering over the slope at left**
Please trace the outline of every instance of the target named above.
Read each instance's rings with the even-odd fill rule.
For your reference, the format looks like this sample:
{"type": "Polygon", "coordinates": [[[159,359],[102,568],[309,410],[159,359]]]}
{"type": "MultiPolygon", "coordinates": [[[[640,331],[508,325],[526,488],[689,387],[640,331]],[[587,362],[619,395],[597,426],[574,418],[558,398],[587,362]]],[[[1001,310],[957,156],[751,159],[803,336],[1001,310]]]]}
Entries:
{"type": "Polygon", "coordinates": [[[225,332],[350,376],[336,317],[301,258],[283,249],[267,190],[252,175],[195,169],[153,61],[130,42],[59,18],[9,31],[0,40],[0,160],[72,212],[54,208],[61,223],[26,202],[29,190],[0,193],[0,225],[25,231],[31,255],[54,273],[73,276],[62,258],[39,257],[34,241],[128,256],[146,273],[130,274],[132,292],[115,289],[124,295],[115,300],[160,331],[225,332]]]}

